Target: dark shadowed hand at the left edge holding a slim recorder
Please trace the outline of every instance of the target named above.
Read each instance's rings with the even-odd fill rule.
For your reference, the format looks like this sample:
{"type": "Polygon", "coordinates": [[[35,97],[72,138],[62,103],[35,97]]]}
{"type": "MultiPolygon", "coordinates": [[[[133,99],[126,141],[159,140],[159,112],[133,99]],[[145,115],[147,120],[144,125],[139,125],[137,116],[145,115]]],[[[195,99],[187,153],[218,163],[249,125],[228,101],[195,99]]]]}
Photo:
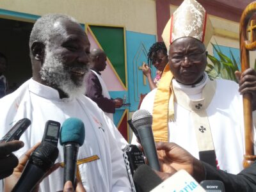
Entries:
{"type": "Polygon", "coordinates": [[[13,169],[19,163],[18,158],[12,152],[24,146],[22,141],[10,141],[0,143],[0,179],[12,175],[13,169]]]}

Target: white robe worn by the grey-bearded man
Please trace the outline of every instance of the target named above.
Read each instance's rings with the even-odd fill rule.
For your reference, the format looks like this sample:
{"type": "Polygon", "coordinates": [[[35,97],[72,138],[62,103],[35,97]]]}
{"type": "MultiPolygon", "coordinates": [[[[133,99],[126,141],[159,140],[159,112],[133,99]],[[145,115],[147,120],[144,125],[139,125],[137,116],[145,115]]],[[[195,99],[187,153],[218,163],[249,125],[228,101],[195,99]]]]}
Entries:
{"type": "MultiPolygon", "coordinates": [[[[42,140],[45,122],[54,120],[62,124],[69,117],[83,121],[84,144],[79,148],[77,161],[86,191],[131,191],[121,148],[127,144],[113,122],[88,97],[60,99],[57,90],[29,79],[18,90],[0,99],[0,136],[3,137],[17,120],[29,118],[31,126],[20,140],[25,146],[15,152],[20,157],[35,143],[42,140]],[[88,161],[88,157],[99,157],[88,161]]],[[[62,163],[63,147],[56,163],[62,163]]],[[[40,191],[63,190],[63,168],[58,168],[40,184],[40,191]]]]}

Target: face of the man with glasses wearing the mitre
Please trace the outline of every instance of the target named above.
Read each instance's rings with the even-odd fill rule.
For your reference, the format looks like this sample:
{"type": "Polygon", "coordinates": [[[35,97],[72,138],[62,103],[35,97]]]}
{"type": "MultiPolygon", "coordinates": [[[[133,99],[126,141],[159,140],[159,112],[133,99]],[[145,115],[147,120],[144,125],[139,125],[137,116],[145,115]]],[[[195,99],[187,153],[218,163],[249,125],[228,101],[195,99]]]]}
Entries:
{"type": "Polygon", "coordinates": [[[176,81],[182,84],[199,83],[207,65],[204,44],[191,37],[178,38],[169,49],[169,65],[176,81]]]}

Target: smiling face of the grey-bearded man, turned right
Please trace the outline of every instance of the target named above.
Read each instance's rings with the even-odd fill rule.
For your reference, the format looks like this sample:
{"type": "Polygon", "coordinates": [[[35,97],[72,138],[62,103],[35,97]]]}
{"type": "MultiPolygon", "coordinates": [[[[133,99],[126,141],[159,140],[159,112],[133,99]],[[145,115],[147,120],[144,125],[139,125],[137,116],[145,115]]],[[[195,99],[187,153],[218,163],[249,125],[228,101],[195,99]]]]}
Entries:
{"type": "Polygon", "coordinates": [[[70,20],[60,20],[45,49],[42,80],[68,95],[83,92],[88,71],[90,42],[83,29],[70,20]]]}

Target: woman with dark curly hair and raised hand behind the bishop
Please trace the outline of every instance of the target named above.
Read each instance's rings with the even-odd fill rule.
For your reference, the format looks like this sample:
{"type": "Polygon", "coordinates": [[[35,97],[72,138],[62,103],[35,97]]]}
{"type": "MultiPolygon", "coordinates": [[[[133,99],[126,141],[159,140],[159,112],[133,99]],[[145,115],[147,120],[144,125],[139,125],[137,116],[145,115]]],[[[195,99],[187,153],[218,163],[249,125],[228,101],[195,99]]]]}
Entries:
{"type": "Polygon", "coordinates": [[[167,49],[164,45],[164,42],[156,42],[153,44],[148,51],[148,64],[151,66],[154,65],[156,67],[156,77],[154,80],[152,79],[151,76],[151,70],[150,67],[143,63],[143,74],[147,77],[148,79],[148,84],[150,90],[153,90],[154,88],[157,87],[157,84],[159,83],[161,76],[163,74],[164,67],[168,63],[168,56],[167,56],[167,49]]]}

